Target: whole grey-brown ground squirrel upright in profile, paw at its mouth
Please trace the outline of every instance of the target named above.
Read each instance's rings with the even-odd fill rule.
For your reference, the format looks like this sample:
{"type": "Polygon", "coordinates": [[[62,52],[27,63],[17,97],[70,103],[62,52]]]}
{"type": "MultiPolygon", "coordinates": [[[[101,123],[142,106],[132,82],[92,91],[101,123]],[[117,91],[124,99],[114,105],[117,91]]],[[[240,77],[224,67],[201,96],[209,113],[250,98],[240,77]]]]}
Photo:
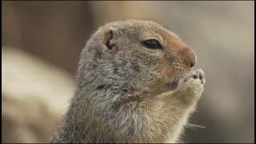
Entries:
{"type": "Polygon", "coordinates": [[[195,54],[157,22],[101,26],[82,50],[77,89],[51,142],[177,142],[201,97],[195,54]]]}

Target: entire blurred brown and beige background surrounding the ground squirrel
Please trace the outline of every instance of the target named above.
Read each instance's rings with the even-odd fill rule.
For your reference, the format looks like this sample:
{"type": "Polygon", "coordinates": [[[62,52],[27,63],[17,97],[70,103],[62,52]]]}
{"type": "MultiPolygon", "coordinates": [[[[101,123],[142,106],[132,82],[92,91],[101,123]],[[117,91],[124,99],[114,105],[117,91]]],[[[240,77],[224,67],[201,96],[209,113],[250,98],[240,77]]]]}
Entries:
{"type": "Polygon", "coordinates": [[[2,142],[49,142],[98,26],[152,19],[206,73],[183,142],[254,142],[254,2],[2,2],[2,142]]]}

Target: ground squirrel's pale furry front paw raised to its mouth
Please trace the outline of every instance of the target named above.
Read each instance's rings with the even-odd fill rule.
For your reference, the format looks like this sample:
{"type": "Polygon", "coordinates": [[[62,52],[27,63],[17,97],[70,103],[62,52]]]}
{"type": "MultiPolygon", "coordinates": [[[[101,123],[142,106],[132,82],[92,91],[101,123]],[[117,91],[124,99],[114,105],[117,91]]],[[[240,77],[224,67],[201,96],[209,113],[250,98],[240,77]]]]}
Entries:
{"type": "Polygon", "coordinates": [[[179,91],[182,92],[187,99],[199,99],[205,83],[206,78],[202,69],[190,71],[190,73],[181,80],[179,91]]]}

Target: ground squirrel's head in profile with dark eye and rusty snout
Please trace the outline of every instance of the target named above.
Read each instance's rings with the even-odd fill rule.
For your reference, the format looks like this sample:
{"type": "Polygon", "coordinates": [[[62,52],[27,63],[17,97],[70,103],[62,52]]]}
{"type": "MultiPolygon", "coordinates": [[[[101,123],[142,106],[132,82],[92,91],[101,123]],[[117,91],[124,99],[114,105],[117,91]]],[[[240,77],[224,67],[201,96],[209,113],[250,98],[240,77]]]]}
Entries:
{"type": "Polygon", "coordinates": [[[193,51],[157,22],[111,22],[100,27],[82,51],[79,84],[157,90],[178,81],[195,62],[193,51]]]}

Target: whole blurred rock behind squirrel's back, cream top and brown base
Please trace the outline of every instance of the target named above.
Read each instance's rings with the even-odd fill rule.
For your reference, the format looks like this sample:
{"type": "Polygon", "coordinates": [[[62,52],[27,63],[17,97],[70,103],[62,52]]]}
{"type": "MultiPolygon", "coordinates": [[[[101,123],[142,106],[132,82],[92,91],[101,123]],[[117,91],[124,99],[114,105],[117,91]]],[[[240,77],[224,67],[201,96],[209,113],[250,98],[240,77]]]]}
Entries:
{"type": "Polygon", "coordinates": [[[50,142],[73,91],[66,72],[2,46],[2,142],[50,142]]]}

